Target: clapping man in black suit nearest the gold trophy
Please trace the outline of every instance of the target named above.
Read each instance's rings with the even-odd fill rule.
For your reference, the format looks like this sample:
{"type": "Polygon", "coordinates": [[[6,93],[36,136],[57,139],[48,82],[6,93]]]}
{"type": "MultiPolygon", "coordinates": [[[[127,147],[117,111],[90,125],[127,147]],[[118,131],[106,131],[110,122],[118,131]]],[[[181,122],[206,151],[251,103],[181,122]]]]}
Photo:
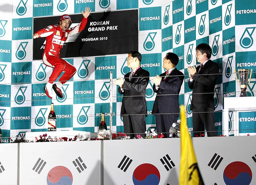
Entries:
{"type": "Polygon", "coordinates": [[[193,89],[190,110],[193,117],[193,135],[217,136],[214,126],[214,88],[219,73],[216,62],[210,60],[212,49],[208,44],[196,46],[196,59],[200,66],[188,67],[188,87],[193,89]]]}

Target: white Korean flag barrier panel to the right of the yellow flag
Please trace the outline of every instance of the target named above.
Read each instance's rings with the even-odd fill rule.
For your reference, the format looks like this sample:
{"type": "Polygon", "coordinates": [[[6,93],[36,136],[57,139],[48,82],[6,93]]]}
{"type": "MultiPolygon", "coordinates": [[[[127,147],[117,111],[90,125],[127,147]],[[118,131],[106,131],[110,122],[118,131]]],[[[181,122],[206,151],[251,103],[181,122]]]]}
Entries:
{"type": "Polygon", "coordinates": [[[193,138],[193,143],[206,184],[256,184],[255,136],[193,138]]]}

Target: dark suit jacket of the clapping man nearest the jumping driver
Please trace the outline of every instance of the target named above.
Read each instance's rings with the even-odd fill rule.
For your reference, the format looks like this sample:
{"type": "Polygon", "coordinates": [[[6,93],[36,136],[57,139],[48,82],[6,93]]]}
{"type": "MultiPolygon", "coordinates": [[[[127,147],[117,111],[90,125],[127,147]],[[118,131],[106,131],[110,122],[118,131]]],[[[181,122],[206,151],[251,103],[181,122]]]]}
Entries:
{"type": "Polygon", "coordinates": [[[124,92],[120,87],[118,88],[118,92],[124,95],[120,113],[124,114],[125,108],[128,114],[147,114],[146,87],[149,81],[149,72],[140,67],[130,81],[129,76],[130,73],[124,75],[124,92]]]}

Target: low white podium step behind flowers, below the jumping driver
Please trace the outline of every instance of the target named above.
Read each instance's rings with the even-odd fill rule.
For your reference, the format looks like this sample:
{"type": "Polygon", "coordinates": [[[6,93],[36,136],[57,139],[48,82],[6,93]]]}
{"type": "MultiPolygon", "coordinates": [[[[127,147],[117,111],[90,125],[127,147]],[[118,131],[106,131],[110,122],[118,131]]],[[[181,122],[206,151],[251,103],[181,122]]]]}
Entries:
{"type": "Polygon", "coordinates": [[[98,133],[95,132],[85,132],[85,131],[75,131],[75,130],[70,130],[70,131],[51,131],[51,132],[26,132],[26,136],[25,138],[30,140],[30,141],[34,141],[36,142],[38,139],[40,139],[39,136],[43,136],[44,134],[47,134],[48,138],[49,136],[51,136],[51,138],[53,139],[55,136],[58,139],[61,139],[62,137],[67,137],[69,138],[74,138],[76,135],[83,135],[85,138],[85,135],[88,135],[89,138],[98,138],[98,133]]]}

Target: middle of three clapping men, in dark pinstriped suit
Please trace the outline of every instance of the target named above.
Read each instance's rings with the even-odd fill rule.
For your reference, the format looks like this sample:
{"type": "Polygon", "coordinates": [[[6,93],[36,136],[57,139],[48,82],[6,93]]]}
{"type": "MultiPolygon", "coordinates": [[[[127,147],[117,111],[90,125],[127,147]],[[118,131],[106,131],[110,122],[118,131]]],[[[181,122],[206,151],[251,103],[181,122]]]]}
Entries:
{"type": "Polygon", "coordinates": [[[175,53],[167,53],[163,60],[163,68],[167,71],[150,78],[156,92],[152,109],[152,114],[156,116],[156,131],[158,134],[165,132],[165,138],[170,137],[166,132],[170,131],[180,115],[179,93],[184,74],[176,68],[178,62],[179,57],[175,53]]]}

